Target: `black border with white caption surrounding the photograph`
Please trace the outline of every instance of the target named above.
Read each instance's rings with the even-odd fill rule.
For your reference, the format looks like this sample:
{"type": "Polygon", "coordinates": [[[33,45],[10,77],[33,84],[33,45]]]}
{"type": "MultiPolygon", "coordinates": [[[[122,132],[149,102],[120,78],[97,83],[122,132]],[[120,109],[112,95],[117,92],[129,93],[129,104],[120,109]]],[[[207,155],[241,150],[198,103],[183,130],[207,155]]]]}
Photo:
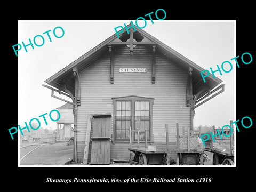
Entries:
{"type": "MultiPolygon", "coordinates": [[[[91,3],[91,2],[90,2],[91,3]]],[[[88,3],[58,3],[53,6],[49,3],[40,6],[29,7],[26,4],[19,6],[18,4],[9,6],[6,11],[8,14],[2,15],[4,19],[3,29],[1,31],[4,46],[2,48],[3,68],[2,74],[2,108],[3,117],[3,132],[2,138],[2,169],[4,172],[4,185],[9,186],[12,183],[17,183],[20,188],[27,185],[36,185],[38,188],[51,189],[65,187],[76,189],[75,187],[88,187],[86,183],[78,183],[74,185],[69,183],[45,183],[46,178],[55,179],[73,179],[74,177],[86,178],[212,178],[210,183],[109,183],[99,184],[91,183],[90,186],[95,188],[111,188],[113,190],[123,190],[123,188],[115,188],[119,185],[137,187],[138,185],[145,188],[154,186],[163,186],[169,188],[161,188],[162,190],[177,190],[172,187],[196,186],[217,187],[225,186],[228,189],[246,183],[246,186],[252,185],[253,176],[250,175],[250,170],[253,168],[253,148],[254,148],[254,122],[255,113],[252,113],[254,104],[254,69],[255,69],[255,30],[252,10],[253,4],[241,2],[239,6],[234,4],[219,4],[206,3],[197,4],[185,2],[180,5],[174,5],[172,2],[156,5],[155,2],[147,2],[139,5],[138,2],[106,2],[103,5],[93,6],[88,3]],[[114,7],[114,5],[116,7],[114,7]],[[146,6],[148,5],[148,6],[146,6]],[[23,9],[21,8],[23,7],[23,9]],[[162,8],[166,11],[167,17],[165,20],[236,20],[236,55],[241,55],[244,52],[251,53],[253,57],[250,65],[241,65],[236,70],[236,119],[242,119],[244,116],[252,118],[253,126],[250,129],[241,129],[237,133],[236,144],[236,161],[237,167],[18,167],[18,138],[14,137],[11,140],[7,129],[18,124],[18,58],[12,50],[12,45],[18,43],[18,20],[135,20],[144,14],[147,14],[157,9],[162,8]],[[90,11],[89,11],[90,10],[90,11]],[[254,49],[253,49],[254,48],[254,49]],[[7,165],[7,166],[6,166],[7,165]],[[6,168],[5,168],[6,167],[6,168]],[[240,184],[241,183],[241,184],[240,184]]],[[[3,14],[3,13],[1,13],[3,14]]],[[[210,59],[210,58],[209,58],[210,59]]],[[[221,110],[221,109],[220,109],[221,110]]],[[[26,111],[26,109],[24,109],[26,111]]],[[[241,124],[238,123],[241,126],[241,124]]],[[[239,127],[240,127],[239,126],[239,127]]],[[[253,174],[253,172],[252,172],[253,174]]],[[[86,189],[86,188],[84,188],[86,189]]],[[[201,188],[197,188],[201,189],[201,188]]],[[[156,188],[157,190],[157,188],[156,188]]]]}

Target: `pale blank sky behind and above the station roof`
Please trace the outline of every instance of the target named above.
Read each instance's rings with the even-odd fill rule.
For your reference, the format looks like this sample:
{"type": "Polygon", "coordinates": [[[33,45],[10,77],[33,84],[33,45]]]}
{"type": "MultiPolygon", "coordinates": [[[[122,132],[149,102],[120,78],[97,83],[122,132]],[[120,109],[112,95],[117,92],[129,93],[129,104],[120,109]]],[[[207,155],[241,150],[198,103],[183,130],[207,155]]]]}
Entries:
{"type": "MultiPolygon", "coordinates": [[[[50,120],[49,113],[65,104],[65,102],[52,98],[51,90],[42,86],[44,81],[63,69],[71,62],[93,49],[102,41],[115,34],[114,28],[128,25],[130,20],[111,21],[76,21],[76,20],[19,20],[18,42],[29,44],[36,35],[44,37],[42,46],[27,46],[27,52],[22,47],[18,52],[18,123],[20,126],[29,123],[30,119],[41,120],[41,127],[56,129],[57,123],[50,120]],[[62,27],[65,34],[61,38],[53,35],[55,27],[62,27]],[[49,31],[52,42],[45,31],[49,31]],[[38,116],[47,113],[45,125],[43,118],[38,116]]],[[[133,21],[135,23],[135,21],[133,21]]],[[[138,22],[139,26],[143,23],[138,22]]],[[[198,66],[210,70],[217,69],[224,61],[233,63],[233,70],[229,73],[215,74],[225,84],[225,92],[207,101],[195,109],[194,127],[199,125],[215,125],[216,127],[229,124],[235,119],[235,21],[171,21],[154,20],[154,24],[147,20],[145,30],[159,39],[173,50],[179,52],[198,66]]],[[[56,29],[60,36],[61,30],[56,29]]],[[[42,44],[40,37],[36,38],[42,44]]],[[[15,53],[13,52],[14,57],[15,53]]],[[[225,67],[226,70],[229,67],[225,67]]],[[[207,77],[206,77],[207,81],[207,77]]],[[[56,93],[55,93],[56,95],[56,93]]],[[[60,95],[57,93],[57,96],[60,95]]],[[[67,99],[67,98],[65,98],[67,99]]],[[[71,101],[71,100],[70,100],[71,101]]],[[[56,116],[52,116],[56,119],[56,116]]]]}

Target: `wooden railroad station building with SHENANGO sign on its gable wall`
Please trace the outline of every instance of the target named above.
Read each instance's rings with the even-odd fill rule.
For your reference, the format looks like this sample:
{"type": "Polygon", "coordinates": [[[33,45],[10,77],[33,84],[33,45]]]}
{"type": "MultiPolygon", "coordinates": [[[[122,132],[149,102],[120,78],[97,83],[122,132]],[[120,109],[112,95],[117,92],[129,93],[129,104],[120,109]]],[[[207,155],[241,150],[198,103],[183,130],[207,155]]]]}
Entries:
{"type": "MultiPolygon", "coordinates": [[[[45,81],[52,97],[58,98],[57,92],[72,99],[74,161],[84,162],[87,154],[90,163],[95,151],[88,138],[99,127],[93,124],[97,115],[110,118],[110,145],[97,153],[128,160],[130,127],[147,130],[148,145],[165,149],[168,124],[169,157],[175,158],[176,123],[180,133],[183,127],[193,130],[195,108],[221,93],[222,81],[210,75],[204,83],[202,67],[142,29],[130,28],[119,36],[110,36],[45,81]]],[[[143,145],[145,133],[139,137],[143,145]]],[[[132,135],[135,144],[137,139],[132,135]]]]}

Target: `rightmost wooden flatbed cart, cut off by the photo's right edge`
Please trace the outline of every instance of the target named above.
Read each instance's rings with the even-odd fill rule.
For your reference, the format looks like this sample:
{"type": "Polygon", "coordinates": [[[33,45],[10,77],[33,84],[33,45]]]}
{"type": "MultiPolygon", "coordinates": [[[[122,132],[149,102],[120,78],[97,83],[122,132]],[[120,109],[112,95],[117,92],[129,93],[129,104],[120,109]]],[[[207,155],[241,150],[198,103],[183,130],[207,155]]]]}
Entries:
{"type": "MultiPolygon", "coordinates": [[[[233,129],[233,125],[230,126],[233,129]]],[[[217,134],[217,129],[215,127],[212,127],[212,133],[213,135],[217,134]]],[[[219,130],[221,133],[221,130],[219,130]]],[[[230,129],[223,130],[225,135],[230,134],[230,129]]],[[[234,130],[233,130],[234,132],[234,130]]],[[[205,141],[205,149],[206,151],[210,151],[213,153],[213,159],[212,164],[213,165],[234,165],[234,134],[231,134],[229,137],[225,137],[225,135],[221,135],[221,138],[219,135],[217,137],[214,137],[215,142],[213,142],[213,139],[211,137],[211,140],[205,141]]]]}

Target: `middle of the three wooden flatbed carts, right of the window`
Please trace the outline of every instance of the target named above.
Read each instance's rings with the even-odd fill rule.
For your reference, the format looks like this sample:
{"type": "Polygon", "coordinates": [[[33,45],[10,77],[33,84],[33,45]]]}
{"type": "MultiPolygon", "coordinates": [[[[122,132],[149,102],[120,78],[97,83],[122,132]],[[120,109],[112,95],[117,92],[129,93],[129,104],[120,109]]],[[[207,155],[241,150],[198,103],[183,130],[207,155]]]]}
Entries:
{"type": "Polygon", "coordinates": [[[179,134],[179,124],[176,124],[177,129],[177,165],[203,165],[204,146],[200,142],[198,135],[201,135],[199,129],[198,135],[194,135],[196,131],[187,128],[187,135],[183,127],[183,134],[179,134]]]}

